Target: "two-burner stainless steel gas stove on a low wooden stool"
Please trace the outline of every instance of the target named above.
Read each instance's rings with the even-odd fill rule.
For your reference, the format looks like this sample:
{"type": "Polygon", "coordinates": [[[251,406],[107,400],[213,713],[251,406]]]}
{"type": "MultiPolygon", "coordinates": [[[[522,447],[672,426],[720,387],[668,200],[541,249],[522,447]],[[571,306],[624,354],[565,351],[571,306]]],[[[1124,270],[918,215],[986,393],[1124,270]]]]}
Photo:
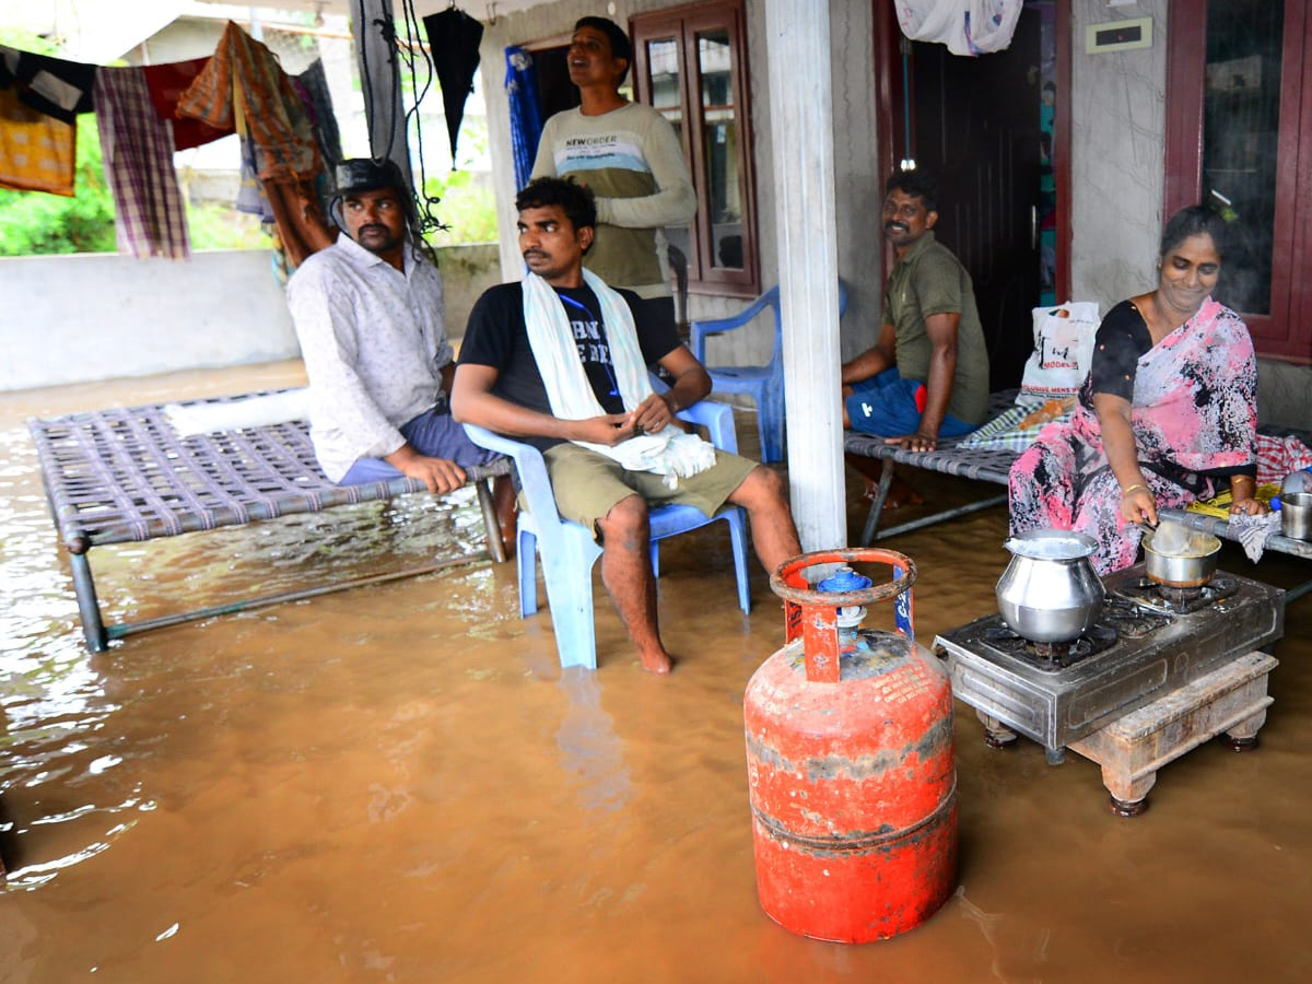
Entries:
{"type": "MultiPolygon", "coordinates": [[[[1097,625],[1073,643],[1040,646],[988,615],[934,640],[954,694],[994,733],[1063,749],[1110,722],[1284,632],[1284,593],[1218,572],[1202,589],[1162,594],[1143,565],[1107,575],[1097,625]]],[[[1000,737],[1000,740],[1002,740],[1000,737]]]]}

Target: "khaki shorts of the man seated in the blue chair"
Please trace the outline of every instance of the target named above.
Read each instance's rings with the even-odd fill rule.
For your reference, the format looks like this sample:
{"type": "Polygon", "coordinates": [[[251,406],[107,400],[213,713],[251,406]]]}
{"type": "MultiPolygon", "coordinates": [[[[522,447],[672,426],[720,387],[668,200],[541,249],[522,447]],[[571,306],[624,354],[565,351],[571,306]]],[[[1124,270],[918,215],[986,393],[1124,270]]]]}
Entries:
{"type": "Polygon", "coordinates": [[[614,459],[568,441],[547,449],[542,457],[556,496],[556,510],[565,520],[592,530],[593,535],[597,520],[635,492],[652,504],[691,505],[705,516],[714,516],[756,467],[749,458],[718,450],[714,467],[668,488],[663,475],[628,471],[614,459]]]}

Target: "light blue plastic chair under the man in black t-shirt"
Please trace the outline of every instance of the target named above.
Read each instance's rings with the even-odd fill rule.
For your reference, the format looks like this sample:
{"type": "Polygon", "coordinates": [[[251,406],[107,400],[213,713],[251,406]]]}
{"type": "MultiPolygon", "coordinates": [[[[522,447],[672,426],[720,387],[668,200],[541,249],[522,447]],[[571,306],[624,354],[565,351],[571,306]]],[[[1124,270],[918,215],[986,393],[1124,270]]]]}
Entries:
{"type": "MultiPolygon", "coordinates": [[[[737,451],[733,409],[723,403],[702,401],[680,417],[707,429],[710,441],[724,451],[737,451]]],[[[601,546],[592,531],[556,512],[546,462],[531,445],[493,434],[485,428],[466,424],[474,443],[500,451],[514,459],[527,509],[520,513],[516,563],[520,575],[520,617],[538,610],[538,569],[534,556],[542,558],[542,575],[547,585],[551,625],[556,634],[556,652],[562,666],[597,668],[597,632],[593,622],[592,567],[601,556],[601,546]]],[[[748,584],[747,514],[740,506],[726,505],[707,518],[690,505],[659,505],[651,509],[652,569],[660,576],[660,541],[723,520],[729,526],[733,569],[737,575],[739,607],[752,607],[748,584]]]]}

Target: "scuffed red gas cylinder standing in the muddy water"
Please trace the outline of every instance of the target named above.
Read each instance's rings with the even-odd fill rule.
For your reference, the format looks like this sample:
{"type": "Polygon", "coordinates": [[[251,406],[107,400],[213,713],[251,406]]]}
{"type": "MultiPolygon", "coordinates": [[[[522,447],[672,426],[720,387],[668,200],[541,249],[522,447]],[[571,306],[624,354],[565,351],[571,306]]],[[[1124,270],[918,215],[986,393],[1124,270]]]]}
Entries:
{"type": "Polygon", "coordinates": [[[789,642],[744,697],[761,908],[785,929],[845,943],[929,918],[956,880],[956,766],[946,670],[916,646],[916,564],[890,550],[806,554],[770,586],[789,642]],[[817,564],[880,563],[893,580],[817,564]],[[865,604],[892,598],[896,632],[858,630],[865,604]]]}

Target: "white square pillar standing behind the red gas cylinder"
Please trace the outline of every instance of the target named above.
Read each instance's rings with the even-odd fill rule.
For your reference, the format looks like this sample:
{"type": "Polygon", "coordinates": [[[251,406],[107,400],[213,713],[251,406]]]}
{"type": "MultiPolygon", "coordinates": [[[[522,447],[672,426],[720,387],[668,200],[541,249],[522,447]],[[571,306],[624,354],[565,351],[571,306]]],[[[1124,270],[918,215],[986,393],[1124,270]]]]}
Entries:
{"type": "Polygon", "coordinates": [[[825,0],[766,0],[789,476],[802,548],[846,546],[838,234],[825,0]]]}

